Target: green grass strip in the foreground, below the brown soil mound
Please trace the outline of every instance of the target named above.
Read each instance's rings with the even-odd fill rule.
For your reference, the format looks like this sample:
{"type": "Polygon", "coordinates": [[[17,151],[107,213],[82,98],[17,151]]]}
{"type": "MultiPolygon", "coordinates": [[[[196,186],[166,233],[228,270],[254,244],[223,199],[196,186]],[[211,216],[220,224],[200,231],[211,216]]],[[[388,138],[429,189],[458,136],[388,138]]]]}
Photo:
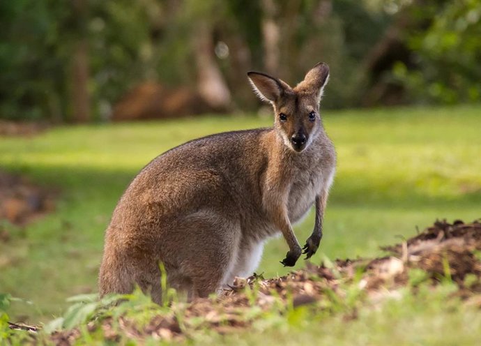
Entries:
{"type": "MultiPolygon", "coordinates": [[[[113,345],[113,336],[116,345],[172,345],[171,340],[158,340],[151,333],[158,331],[159,326],[168,328],[167,321],[176,316],[184,337],[176,343],[181,345],[479,345],[480,296],[472,296],[471,302],[462,301],[455,296],[458,285],[447,277],[435,287],[429,280],[418,280],[390,291],[384,287],[379,292],[382,299],[368,299],[356,280],[343,281],[339,280],[337,292],[330,291],[320,301],[296,308],[292,306],[292,297],[282,301],[275,295],[270,296],[275,303],[260,308],[255,288],[245,292],[245,296],[252,297],[250,303],[236,306],[236,310],[224,311],[222,303],[213,299],[213,309],[209,311],[217,317],[217,323],[211,319],[212,315],[208,317],[210,313],[192,317],[185,313],[188,306],[182,304],[156,306],[139,290],[122,296],[123,302],[108,310],[105,308],[108,301],[119,296],[102,301],[91,295],[74,297],[69,312],[52,325],[47,324],[45,333],[40,331],[36,340],[49,345],[52,340],[47,330],[58,330],[62,324],[67,333],[72,326],[78,327],[80,335],[75,345],[113,345]],[[120,316],[124,326],[133,328],[121,326],[120,316]],[[113,317],[112,322],[107,322],[109,317],[113,317]],[[151,324],[156,317],[163,317],[163,322],[156,319],[151,324]],[[86,321],[91,320],[96,328],[88,331],[86,321]],[[219,326],[235,326],[233,321],[247,322],[248,326],[237,324],[237,329],[224,335],[215,331],[219,326]],[[109,336],[105,331],[109,331],[109,336]]],[[[31,340],[26,332],[6,331],[6,335],[11,345],[24,345],[31,340]]]]}

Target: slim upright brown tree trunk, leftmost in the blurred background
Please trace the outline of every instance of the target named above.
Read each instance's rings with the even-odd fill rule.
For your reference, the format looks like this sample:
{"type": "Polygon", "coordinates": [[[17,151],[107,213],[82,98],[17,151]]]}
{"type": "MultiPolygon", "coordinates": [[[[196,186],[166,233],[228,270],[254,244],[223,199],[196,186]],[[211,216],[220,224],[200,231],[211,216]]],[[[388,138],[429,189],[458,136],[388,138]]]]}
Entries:
{"type": "Polygon", "coordinates": [[[77,42],[72,56],[73,121],[86,123],[91,119],[89,96],[89,44],[86,39],[87,1],[72,0],[77,18],[77,42]]]}

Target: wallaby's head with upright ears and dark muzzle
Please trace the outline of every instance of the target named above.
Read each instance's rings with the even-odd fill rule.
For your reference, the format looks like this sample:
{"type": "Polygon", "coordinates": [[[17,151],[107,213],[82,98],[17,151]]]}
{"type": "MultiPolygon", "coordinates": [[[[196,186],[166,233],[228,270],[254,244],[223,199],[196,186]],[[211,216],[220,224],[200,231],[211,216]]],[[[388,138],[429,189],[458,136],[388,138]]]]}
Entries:
{"type": "Polygon", "coordinates": [[[297,152],[306,149],[323,130],[319,102],[328,82],[329,66],[318,63],[294,88],[265,73],[249,72],[247,75],[257,96],[273,105],[274,127],[284,144],[297,152]]]}

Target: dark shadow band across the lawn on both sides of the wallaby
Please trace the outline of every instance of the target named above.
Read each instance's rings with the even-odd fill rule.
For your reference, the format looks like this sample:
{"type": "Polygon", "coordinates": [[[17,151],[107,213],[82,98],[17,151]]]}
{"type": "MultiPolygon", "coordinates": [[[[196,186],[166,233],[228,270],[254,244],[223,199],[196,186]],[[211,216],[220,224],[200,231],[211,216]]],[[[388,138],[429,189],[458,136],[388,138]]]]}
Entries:
{"type": "MultiPolygon", "coordinates": [[[[18,170],[18,168],[17,168],[18,170]]],[[[62,203],[104,203],[114,208],[136,174],[142,170],[99,170],[93,167],[22,167],[22,174],[43,186],[61,189],[62,203]]],[[[448,182],[446,182],[448,183],[448,182]]],[[[362,206],[369,209],[422,209],[423,207],[449,208],[450,206],[481,205],[481,190],[465,193],[427,193],[422,186],[406,180],[395,180],[386,175],[383,181],[363,175],[343,174],[335,181],[330,193],[330,203],[342,206],[362,206]]],[[[102,208],[104,209],[104,208],[102,208]]]]}

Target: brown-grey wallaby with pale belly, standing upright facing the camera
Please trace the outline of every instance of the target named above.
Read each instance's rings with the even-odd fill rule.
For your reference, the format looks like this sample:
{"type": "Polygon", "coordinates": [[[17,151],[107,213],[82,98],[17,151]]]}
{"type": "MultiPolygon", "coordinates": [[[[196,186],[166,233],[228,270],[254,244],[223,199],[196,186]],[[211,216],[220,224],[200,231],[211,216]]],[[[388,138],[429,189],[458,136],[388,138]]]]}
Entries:
{"type": "Polygon", "coordinates": [[[193,140],[146,165],[107,228],[101,295],[139,285],[160,303],[162,263],[170,287],[190,300],[207,296],[250,276],[264,242],[279,232],[289,246],[284,266],[316,253],[336,161],[319,112],[329,68],[318,63],[294,88],[264,73],[247,75],[273,105],[273,128],[193,140]],[[314,231],[300,248],[291,223],[314,202],[314,231]]]}

